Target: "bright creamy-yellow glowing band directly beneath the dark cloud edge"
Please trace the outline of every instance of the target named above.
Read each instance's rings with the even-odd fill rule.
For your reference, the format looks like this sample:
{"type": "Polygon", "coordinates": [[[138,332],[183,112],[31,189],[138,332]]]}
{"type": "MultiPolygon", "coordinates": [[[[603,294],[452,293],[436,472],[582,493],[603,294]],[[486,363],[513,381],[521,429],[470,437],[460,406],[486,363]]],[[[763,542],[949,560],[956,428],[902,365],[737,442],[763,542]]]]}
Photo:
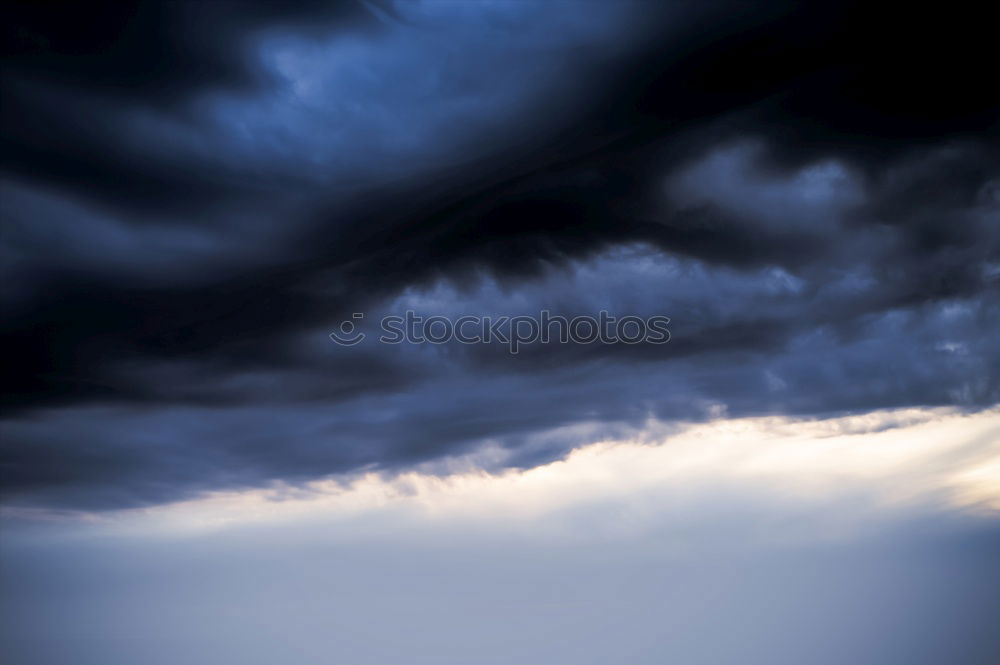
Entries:
{"type": "Polygon", "coordinates": [[[933,499],[967,510],[1000,510],[998,408],[976,414],[907,409],[810,421],[728,419],[693,424],[655,443],[649,439],[648,432],[639,432],[635,439],[594,443],[524,471],[391,478],[372,473],[349,484],[324,480],[221,492],[107,519],[181,530],[377,514],[516,522],[608,501],[632,502],[640,513],[662,516],[678,505],[691,509],[710,501],[716,492],[803,505],[863,495],[873,508],[933,499]]]}

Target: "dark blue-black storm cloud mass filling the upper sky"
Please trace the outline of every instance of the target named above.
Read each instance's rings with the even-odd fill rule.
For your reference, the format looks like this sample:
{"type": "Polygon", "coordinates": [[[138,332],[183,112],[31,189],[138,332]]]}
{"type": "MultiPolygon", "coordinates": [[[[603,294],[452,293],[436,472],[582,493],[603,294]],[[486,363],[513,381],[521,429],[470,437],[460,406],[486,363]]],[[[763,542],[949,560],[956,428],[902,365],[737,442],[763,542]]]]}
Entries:
{"type": "Polygon", "coordinates": [[[1000,400],[983,10],[687,4],[12,5],[10,500],[1000,400]],[[326,339],[407,305],[673,339],[326,339]]]}

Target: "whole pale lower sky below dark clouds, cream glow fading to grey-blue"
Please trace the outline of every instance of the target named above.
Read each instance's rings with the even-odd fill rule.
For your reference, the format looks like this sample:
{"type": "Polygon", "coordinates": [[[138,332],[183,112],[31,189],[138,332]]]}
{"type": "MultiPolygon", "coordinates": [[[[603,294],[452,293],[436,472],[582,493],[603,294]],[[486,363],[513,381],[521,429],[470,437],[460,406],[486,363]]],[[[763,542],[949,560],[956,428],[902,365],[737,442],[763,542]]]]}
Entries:
{"type": "Polygon", "coordinates": [[[39,665],[1000,653],[1000,410],[649,423],[528,471],[462,471],[475,461],[8,510],[4,641],[39,665]]]}

